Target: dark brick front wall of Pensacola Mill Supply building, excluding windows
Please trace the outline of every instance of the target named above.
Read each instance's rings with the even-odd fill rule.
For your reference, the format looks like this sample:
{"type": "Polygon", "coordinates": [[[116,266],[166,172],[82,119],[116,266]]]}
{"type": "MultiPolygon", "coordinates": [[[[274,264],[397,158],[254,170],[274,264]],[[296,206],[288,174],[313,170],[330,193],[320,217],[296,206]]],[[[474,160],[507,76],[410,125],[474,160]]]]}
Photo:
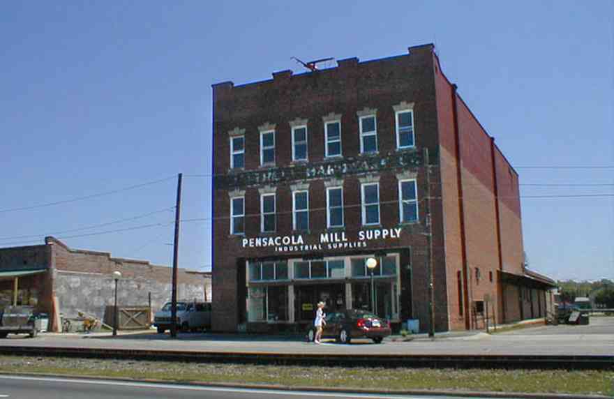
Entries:
{"type": "MultiPolygon", "coordinates": [[[[331,112],[342,114],[342,149],[345,158],[359,156],[359,126],[357,111],[365,107],[377,109],[377,138],[380,155],[396,151],[393,105],[405,101],[414,103],[414,130],[417,151],[430,149],[433,161],[437,154],[437,113],[433,82],[432,47],[412,47],[410,55],[358,63],[357,59],[339,61],[338,68],[318,73],[291,75],[274,74],[274,79],[255,84],[234,86],[230,82],[214,85],[214,172],[225,174],[230,167],[228,132],[245,129],[246,170],[260,165],[260,133],[258,126],[265,122],[276,124],[276,166],[291,163],[291,129],[289,122],[308,119],[308,157],[310,163],[324,159],[324,124],[322,116],[331,112]]],[[[380,201],[398,201],[394,173],[380,174],[380,201]]],[[[419,198],[425,197],[424,170],[419,179],[419,198]]],[[[433,176],[438,181],[438,173],[433,176]]],[[[288,183],[290,184],[290,183],[288,183]]],[[[277,234],[292,231],[292,197],[288,184],[277,186],[277,234]]],[[[438,197],[433,185],[433,196],[438,197]]],[[[314,234],[326,230],[325,188],[323,181],[310,183],[310,229],[314,234]]],[[[344,179],[345,231],[354,234],[360,225],[360,186],[355,176],[344,179]]],[[[260,234],[260,197],[257,187],[246,188],[246,235],[260,234]]],[[[229,236],[230,201],[226,190],[216,189],[214,203],[214,325],[225,331],[237,329],[237,257],[275,255],[267,248],[244,250],[240,239],[229,236]]],[[[443,216],[438,199],[433,200],[433,263],[435,275],[435,313],[440,330],[447,329],[447,292],[444,265],[443,216]],[[439,235],[437,235],[439,234],[439,235]]],[[[424,202],[421,202],[421,223],[424,221],[424,202]]],[[[398,203],[382,205],[382,227],[398,225],[398,203]]],[[[394,246],[412,246],[414,273],[414,312],[426,317],[426,239],[424,226],[408,227],[405,238],[394,246]]],[[[371,245],[370,248],[389,247],[391,241],[371,245]]],[[[241,262],[241,260],[239,260],[241,262]]],[[[405,262],[405,259],[402,259],[405,262]]],[[[409,263],[408,261],[406,264],[409,263]]],[[[405,287],[405,291],[409,288],[405,287]]],[[[243,301],[243,299],[239,299],[243,301]]],[[[415,316],[415,315],[414,315],[415,316]]],[[[409,317],[406,315],[405,317],[409,317]]]]}

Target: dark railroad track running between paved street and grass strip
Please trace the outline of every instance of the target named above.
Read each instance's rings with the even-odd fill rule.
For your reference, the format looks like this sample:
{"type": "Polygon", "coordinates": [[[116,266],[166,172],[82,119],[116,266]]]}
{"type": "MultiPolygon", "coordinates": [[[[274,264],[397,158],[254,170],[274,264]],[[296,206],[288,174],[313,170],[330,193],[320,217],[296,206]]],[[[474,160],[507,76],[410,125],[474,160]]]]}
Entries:
{"type": "Polygon", "coordinates": [[[268,352],[190,352],[147,349],[100,349],[80,347],[0,346],[0,354],[77,358],[190,361],[200,363],[253,363],[301,366],[452,367],[452,368],[559,368],[567,370],[614,370],[614,356],[564,355],[357,355],[277,354],[268,352]]]}

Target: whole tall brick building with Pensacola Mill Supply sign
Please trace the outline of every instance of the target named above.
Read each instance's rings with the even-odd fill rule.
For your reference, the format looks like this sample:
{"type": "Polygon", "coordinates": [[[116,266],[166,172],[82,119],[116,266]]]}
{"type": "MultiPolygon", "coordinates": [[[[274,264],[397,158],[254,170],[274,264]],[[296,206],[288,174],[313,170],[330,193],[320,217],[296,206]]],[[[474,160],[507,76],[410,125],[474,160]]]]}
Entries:
{"type": "Polygon", "coordinates": [[[425,331],[431,281],[436,331],[544,317],[518,174],[433,45],[337,64],[213,86],[214,329],[296,329],[324,301],[425,331]]]}

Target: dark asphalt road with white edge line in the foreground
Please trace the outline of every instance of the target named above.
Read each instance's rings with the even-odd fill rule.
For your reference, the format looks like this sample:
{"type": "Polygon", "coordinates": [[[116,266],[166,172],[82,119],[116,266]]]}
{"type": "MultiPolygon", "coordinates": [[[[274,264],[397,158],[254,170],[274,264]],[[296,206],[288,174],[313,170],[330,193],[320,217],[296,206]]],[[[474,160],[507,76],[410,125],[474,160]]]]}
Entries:
{"type": "MultiPolygon", "coordinates": [[[[68,379],[0,375],[0,398],[9,399],[123,399],[123,398],[220,398],[220,399],[447,399],[452,396],[402,396],[384,394],[276,391],[271,389],[217,388],[181,384],[148,384],[98,379],[68,379]]],[[[458,396],[454,396],[458,399],[458,396]]],[[[469,399],[470,397],[465,397],[469,399]]],[[[484,397],[481,397],[484,398],[484,397]]]]}

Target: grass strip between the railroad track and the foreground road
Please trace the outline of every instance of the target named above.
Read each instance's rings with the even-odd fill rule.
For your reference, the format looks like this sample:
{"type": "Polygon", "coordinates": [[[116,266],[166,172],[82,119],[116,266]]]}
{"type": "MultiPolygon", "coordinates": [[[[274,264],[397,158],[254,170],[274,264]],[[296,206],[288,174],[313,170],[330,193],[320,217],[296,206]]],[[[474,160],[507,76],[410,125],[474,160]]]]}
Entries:
{"type": "Polygon", "coordinates": [[[0,356],[0,372],[379,391],[436,389],[614,395],[614,371],[596,370],[342,368],[0,356]]]}

